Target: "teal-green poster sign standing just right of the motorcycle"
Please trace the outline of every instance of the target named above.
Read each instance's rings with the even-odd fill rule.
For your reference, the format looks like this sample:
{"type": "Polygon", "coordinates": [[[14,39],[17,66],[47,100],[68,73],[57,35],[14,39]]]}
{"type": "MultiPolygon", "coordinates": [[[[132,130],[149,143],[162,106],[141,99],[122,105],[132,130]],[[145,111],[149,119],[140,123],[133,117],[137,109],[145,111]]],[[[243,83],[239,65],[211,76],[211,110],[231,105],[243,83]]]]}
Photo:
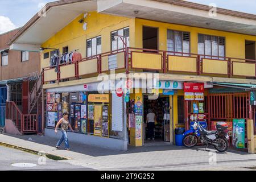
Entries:
{"type": "Polygon", "coordinates": [[[245,119],[233,119],[233,146],[245,148],[245,119]]]}

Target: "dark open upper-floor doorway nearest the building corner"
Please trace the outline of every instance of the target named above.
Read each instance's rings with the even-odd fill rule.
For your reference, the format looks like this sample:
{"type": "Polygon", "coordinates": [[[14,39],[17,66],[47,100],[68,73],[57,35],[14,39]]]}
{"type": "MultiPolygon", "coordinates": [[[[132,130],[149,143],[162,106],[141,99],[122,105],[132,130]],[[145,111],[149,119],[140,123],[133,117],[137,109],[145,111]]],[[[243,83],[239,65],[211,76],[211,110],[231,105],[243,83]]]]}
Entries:
{"type": "Polygon", "coordinates": [[[143,26],[143,49],[158,50],[158,28],[143,26]]]}

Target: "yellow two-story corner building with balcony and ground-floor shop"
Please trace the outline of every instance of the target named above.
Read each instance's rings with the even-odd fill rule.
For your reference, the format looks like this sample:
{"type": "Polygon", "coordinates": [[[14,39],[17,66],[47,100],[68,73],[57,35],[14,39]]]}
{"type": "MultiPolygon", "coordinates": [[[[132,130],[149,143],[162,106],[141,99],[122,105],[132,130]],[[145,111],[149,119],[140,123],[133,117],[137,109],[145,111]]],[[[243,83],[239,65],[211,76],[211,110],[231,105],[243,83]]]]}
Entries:
{"type": "Polygon", "coordinates": [[[48,3],[9,43],[41,53],[46,135],[68,111],[69,140],[127,150],[177,144],[175,129],[195,120],[208,129],[228,122],[232,136],[233,119],[253,119],[255,42],[253,14],[186,1],[67,0],[48,3]]]}

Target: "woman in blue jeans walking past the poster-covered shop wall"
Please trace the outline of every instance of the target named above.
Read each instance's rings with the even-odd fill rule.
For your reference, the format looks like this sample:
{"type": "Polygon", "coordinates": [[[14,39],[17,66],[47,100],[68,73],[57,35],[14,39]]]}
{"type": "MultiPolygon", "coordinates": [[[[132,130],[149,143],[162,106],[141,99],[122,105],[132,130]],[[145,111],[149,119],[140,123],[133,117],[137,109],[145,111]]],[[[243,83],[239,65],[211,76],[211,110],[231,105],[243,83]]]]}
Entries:
{"type": "Polygon", "coordinates": [[[56,148],[59,149],[60,144],[64,140],[65,141],[65,150],[70,150],[69,143],[68,143],[67,130],[68,130],[68,128],[70,128],[72,132],[74,132],[74,131],[73,131],[70,123],[68,122],[68,113],[63,113],[63,118],[60,119],[60,121],[57,123],[57,125],[55,127],[55,134],[57,134],[57,129],[58,129],[59,125],[60,125],[60,129],[61,129],[62,137],[59,140],[59,142],[56,144],[56,148]]]}

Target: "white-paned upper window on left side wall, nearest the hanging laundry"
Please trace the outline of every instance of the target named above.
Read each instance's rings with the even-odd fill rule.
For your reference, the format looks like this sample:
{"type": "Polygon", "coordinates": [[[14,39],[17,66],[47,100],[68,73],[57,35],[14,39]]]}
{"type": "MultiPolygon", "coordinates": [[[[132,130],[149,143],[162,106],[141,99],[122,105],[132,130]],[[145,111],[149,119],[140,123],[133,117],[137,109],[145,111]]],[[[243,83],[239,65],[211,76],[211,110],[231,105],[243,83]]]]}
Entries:
{"type": "Polygon", "coordinates": [[[101,36],[86,41],[87,57],[101,53],[101,36]]]}

